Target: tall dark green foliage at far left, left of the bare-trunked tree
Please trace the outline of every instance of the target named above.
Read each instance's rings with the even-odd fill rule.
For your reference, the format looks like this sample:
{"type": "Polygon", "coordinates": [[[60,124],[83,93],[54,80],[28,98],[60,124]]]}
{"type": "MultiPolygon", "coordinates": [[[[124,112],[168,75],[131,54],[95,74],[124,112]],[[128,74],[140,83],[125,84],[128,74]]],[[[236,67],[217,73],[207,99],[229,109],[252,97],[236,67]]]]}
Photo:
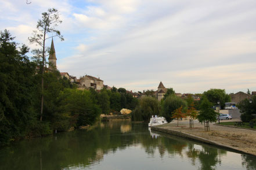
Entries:
{"type": "Polygon", "coordinates": [[[32,109],[34,63],[5,29],[0,36],[0,145],[26,135],[35,114],[32,109]]]}

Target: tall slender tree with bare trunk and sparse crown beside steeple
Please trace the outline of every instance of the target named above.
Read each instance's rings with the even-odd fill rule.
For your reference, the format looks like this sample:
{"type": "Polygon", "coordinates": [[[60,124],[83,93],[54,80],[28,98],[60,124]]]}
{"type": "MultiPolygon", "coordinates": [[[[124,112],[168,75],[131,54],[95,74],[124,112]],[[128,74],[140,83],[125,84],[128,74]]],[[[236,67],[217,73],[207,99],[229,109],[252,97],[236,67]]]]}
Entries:
{"type": "Polygon", "coordinates": [[[63,36],[60,34],[60,31],[56,27],[62,23],[59,18],[59,13],[57,9],[52,8],[48,9],[47,12],[42,13],[42,19],[39,19],[37,22],[37,29],[33,31],[33,36],[28,38],[30,43],[35,43],[39,46],[39,49],[34,49],[33,53],[39,61],[40,64],[40,73],[41,73],[41,111],[40,111],[40,121],[42,121],[42,115],[44,112],[44,73],[46,65],[46,52],[49,50],[45,45],[47,39],[57,36],[60,40],[64,40],[63,36]],[[53,36],[48,36],[48,34],[55,34],[53,36]]]}

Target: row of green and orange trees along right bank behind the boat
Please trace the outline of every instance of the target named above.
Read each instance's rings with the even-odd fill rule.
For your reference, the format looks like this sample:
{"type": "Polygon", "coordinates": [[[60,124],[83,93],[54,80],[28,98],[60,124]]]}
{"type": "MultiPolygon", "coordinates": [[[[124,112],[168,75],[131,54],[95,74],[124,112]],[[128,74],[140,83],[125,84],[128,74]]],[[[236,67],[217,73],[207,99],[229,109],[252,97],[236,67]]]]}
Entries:
{"type": "Polygon", "coordinates": [[[192,121],[198,119],[200,122],[209,123],[216,121],[218,115],[212,107],[218,105],[218,102],[219,105],[225,106],[225,102],[229,102],[231,99],[222,89],[205,91],[201,95],[200,101],[194,101],[192,95],[188,95],[187,98],[177,97],[172,88],[167,89],[167,93],[161,101],[152,96],[149,93],[147,97],[140,99],[139,105],[131,114],[132,120],[149,121],[152,115],[156,114],[165,117],[168,122],[188,116],[192,121]],[[199,110],[198,115],[196,110],[199,110]]]}

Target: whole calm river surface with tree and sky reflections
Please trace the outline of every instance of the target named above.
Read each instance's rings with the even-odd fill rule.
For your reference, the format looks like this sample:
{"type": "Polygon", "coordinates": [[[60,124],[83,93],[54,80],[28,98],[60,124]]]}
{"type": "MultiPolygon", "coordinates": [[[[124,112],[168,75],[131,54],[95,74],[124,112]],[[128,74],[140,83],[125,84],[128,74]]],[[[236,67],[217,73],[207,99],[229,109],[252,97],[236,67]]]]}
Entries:
{"type": "Polygon", "coordinates": [[[256,157],[113,121],[4,147],[0,169],[256,169],[256,157]]]}

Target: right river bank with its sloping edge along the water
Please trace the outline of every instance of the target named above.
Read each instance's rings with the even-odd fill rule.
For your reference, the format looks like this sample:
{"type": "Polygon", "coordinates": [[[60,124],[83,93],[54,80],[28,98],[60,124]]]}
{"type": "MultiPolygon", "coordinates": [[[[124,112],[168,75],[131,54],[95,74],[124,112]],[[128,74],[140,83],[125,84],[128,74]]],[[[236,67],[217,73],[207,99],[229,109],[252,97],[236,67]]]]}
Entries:
{"type": "Polygon", "coordinates": [[[177,127],[176,121],[172,121],[152,127],[152,130],[256,156],[256,131],[210,124],[210,131],[205,132],[204,125],[198,121],[194,121],[194,128],[189,128],[189,120],[179,121],[179,127],[177,127]]]}

